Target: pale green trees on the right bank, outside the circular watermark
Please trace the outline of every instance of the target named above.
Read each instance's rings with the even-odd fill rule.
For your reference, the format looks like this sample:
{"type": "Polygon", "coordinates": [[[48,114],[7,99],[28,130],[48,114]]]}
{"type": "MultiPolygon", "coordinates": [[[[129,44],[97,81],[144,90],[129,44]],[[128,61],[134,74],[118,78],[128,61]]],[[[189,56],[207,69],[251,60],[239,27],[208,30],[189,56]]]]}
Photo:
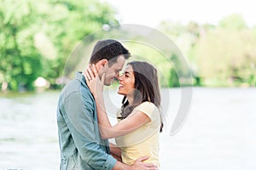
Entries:
{"type": "Polygon", "coordinates": [[[188,59],[196,86],[255,86],[256,29],[240,14],[224,17],[218,26],[163,22],[160,29],[188,59]]]}

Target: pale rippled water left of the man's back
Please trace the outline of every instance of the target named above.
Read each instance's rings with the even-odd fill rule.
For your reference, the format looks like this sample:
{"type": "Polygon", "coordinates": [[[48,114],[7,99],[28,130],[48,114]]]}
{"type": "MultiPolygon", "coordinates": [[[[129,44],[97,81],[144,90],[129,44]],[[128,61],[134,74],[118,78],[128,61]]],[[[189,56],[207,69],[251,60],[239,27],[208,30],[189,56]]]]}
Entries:
{"type": "Polygon", "coordinates": [[[59,93],[0,99],[0,169],[57,169],[59,93]]]}

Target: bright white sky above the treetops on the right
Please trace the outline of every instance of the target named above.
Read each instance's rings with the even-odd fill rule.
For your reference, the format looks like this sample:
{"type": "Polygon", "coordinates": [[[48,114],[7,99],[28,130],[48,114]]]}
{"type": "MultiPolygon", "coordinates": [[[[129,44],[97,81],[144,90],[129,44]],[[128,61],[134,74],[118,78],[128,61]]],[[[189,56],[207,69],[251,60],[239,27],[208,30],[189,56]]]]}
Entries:
{"type": "Polygon", "coordinates": [[[102,0],[116,8],[121,24],[158,26],[161,20],[182,24],[195,21],[199,24],[218,25],[230,14],[241,14],[247,26],[256,26],[253,0],[102,0]]]}

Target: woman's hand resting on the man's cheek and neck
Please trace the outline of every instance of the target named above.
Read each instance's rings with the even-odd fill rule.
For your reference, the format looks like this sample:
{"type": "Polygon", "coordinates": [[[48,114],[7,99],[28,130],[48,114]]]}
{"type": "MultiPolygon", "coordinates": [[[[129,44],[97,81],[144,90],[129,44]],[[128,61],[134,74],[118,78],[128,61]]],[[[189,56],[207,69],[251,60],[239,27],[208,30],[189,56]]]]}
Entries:
{"type": "Polygon", "coordinates": [[[98,75],[95,65],[88,65],[83,72],[86,83],[90,88],[91,94],[96,97],[96,95],[102,95],[105,73],[102,74],[102,79],[98,75]]]}

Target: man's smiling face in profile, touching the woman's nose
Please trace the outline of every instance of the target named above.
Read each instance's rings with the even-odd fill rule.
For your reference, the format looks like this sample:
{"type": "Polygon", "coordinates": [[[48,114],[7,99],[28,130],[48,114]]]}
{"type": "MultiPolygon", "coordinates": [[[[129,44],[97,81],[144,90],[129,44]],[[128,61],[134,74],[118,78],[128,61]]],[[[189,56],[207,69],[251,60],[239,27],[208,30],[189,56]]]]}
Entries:
{"type": "Polygon", "coordinates": [[[117,77],[119,74],[119,71],[122,70],[123,66],[125,64],[125,57],[123,55],[119,55],[117,57],[117,60],[111,67],[107,67],[105,73],[105,81],[104,85],[109,86],[111,82],[113,82],[113,78],[117,77]]]}

